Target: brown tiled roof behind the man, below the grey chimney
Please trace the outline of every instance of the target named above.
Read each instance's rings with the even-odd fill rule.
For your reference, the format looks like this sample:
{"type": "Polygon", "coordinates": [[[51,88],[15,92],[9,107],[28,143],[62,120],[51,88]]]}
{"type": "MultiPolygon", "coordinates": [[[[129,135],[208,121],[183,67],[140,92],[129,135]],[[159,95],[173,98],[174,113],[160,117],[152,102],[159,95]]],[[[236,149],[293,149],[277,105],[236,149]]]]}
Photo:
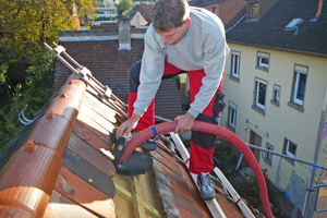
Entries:
{"type": "MultiPolygon", "coordinates": [[[[93,32],[97,33],[101,31],[93,32]]],[[[75,33],[78,34],[78,32],[75,33]]],[[[131,50],[118,50],[119,44],[117,39],[78,40],[76,38],[70,41],[59,41],[59,44],[66,48],[66,52],[73,59],[82,65],[87,66],[99,82],[109,86],[120,99],[128,104],[128,69],[142,59],[144,50],[143,38],[132,38],[131,50]]],[[[57,63],[53,93],[64,84],[70,74],[71,72],[63,64],[57,63]]],[[[155,111],[157,116],[170,120],[183,113],[174,78],[162,81],[156,96],[155,111]]]]}

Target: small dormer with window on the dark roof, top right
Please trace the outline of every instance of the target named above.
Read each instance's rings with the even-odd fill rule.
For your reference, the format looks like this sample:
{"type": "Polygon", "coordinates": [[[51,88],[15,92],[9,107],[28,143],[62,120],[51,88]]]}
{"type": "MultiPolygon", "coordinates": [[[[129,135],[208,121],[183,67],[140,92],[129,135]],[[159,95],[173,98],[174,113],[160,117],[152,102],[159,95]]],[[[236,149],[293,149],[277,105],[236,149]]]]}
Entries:
{"type": "Polygon", "coordinates": [[[278,0],[247,0],[246,21],[258,21],[277,1],[278,0]]]}

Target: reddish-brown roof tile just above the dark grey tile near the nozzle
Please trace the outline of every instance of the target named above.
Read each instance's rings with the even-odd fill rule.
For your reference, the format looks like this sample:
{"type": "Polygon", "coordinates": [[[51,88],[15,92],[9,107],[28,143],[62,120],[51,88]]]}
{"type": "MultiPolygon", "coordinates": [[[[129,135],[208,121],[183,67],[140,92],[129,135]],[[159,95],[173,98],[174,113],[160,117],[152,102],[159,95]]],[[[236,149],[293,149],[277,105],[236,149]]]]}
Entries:
{"type": "MultiPolygon", "coordinates": [[[[76,121],[73,126],[73,133],[85,141],[88,145],[90,145],[96,150],[101,152],[108,158],[114,159],[113,149],[111,147],[112,142],[109,136],[107,138],[101,138],[95,133],[90,132],[86,126],[84,126],[80,121],[76,121]]],[[[111,134],[111,133],[110,133],[111,134]]]]}

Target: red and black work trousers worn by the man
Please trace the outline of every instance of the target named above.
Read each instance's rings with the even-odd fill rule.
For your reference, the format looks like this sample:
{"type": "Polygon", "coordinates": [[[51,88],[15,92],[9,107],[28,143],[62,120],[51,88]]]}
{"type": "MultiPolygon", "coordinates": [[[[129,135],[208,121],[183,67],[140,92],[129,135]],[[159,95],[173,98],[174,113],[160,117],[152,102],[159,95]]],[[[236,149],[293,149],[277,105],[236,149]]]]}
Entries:
{"type": "MultiPolygon", "coordinates": [[[[134,102],[137,97],[137,87],[140,85],[140,71],[141,61],[137,61],[129,69],[129,118],[132,117],[134,111],[134,102]]],[[[165,62],[165,71],[162,80],[173,77],[181,73],[187,73],[190,81],[190,94],[191,101],[194,101],[195,95],[198,93],[202,86],[202,78],[205,76],[204,70],[196,71],[183,71],[174,65],[165,62]]],[[[218,87],[218,92],[210,100],[209,105],[204,109],[202,113],[197,116],[195,120],[204,121],[208,123],[218,124],[217,117],[221,113],[221,107],[219,106],[218,93],[222,88],[222,78],[218,87]]],[[[178,97],[178,96],[177,96],[178,97]]],[[[222,107],[223,108],[223,107],[222,107]]],[[[137,126],[134,131],[142,131],[152,125],[155,125],[155,99],[153,99],[150,106],[146,112],[140,119],[137,126]]],[[[215,150],[216,135],[208,133],[192,131],[191,135],[191,152],[190,152],[190,172],[201,174],[201,172],[211,172],[214,169],[213,155],[215,150]]]]}

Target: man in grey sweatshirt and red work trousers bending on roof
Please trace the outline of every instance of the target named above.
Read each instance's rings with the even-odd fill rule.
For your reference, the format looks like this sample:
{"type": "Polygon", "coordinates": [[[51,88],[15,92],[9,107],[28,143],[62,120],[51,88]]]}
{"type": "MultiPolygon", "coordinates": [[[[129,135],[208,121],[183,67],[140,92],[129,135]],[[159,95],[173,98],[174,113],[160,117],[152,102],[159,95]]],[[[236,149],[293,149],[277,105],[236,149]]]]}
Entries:
{"type": "MultiPolygon", "coordinates": [[[[217,90],[222,87],[229,52],[222,22],[205,9],[190,9],[186,0],[159,0],[153,9],[152,19],[145,35],[142,62],[129,69],[130,119],[117,129],[116,136],[154,125],[154,97],[161,78],[185,72],[189,74],[192,104],[185,114],[175,118],[174,132],[190,131],[194,120],[217,124],[216,118],[222,110],[219,109],[222,94],[217,90]]],[[[214,169],[216,136],[192,132],[191,141],[189,170],[199,174],[202,197],[214,198],[209,172],[214,169]]]]}

